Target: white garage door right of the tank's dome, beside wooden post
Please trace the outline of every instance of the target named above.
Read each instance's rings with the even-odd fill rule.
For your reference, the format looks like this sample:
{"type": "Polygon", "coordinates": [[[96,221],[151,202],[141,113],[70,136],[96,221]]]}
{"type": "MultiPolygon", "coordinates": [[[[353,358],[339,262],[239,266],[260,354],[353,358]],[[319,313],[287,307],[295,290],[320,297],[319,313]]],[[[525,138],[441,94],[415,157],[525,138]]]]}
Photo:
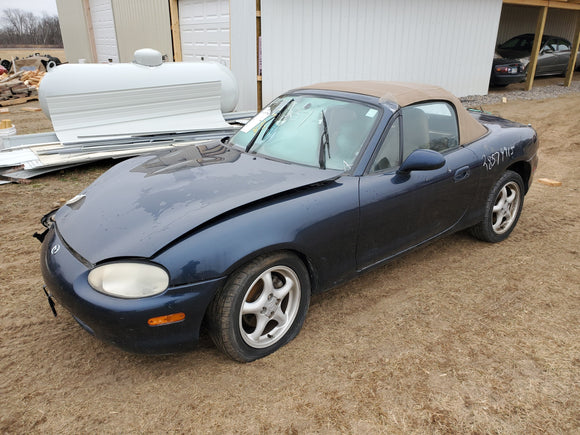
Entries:
{"type": "Polygon", "coordinates": [[[184,61],[230,66],[229,0],[179,0],[179,27],[184,61]]]}

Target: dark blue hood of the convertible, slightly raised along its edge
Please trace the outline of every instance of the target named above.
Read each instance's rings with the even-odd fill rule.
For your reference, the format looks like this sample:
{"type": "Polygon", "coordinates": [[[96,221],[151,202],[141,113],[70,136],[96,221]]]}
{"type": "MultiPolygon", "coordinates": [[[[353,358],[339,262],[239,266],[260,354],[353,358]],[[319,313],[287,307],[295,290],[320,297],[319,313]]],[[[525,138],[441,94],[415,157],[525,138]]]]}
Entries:
{"type": "Polygon", "coordinates": [[[219,142],[189,146],[114,166],[54,220],[65,243],[92,264],[147,258],[224,213],[340,174],[242,153],[219,142]]]}

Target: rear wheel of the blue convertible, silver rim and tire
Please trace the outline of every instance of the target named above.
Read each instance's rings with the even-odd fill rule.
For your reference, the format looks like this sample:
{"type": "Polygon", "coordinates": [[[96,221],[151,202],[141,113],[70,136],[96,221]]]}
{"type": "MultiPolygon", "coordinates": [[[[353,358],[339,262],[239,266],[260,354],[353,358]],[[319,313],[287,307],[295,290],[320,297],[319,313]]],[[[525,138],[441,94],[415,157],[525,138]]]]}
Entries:
{"type": "Polygon", "coordinates": [[[471,233],[490,243],[507,239],[520,218],[523,205],[522,177],[516,172],[506,171],[489,192],[483,220],[471,228],[471,233]]]}

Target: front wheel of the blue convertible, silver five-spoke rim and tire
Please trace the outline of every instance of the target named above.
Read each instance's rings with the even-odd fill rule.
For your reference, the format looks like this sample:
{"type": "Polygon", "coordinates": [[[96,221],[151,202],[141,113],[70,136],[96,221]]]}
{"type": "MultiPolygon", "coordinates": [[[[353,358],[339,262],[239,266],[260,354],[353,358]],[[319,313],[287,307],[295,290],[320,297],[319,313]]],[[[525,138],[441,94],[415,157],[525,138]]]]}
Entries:
{"type": "Polygon", "coordinates": [[[250,362],[278,350],[302,328],[310,304],[308,270],[278,252],[234,272],[208,311],[209,334],[232,359],[250,362]]]}

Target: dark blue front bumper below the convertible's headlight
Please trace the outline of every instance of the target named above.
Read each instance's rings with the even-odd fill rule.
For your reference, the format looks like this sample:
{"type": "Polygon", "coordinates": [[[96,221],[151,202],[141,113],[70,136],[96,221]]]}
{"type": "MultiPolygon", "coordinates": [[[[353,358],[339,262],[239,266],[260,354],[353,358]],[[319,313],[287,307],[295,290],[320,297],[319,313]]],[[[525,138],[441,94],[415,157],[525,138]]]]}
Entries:
{"type": "Polygon", "coordinates": [[[122,299],[95,291],[90,268],[67,249],[53,226],[41,249],[41,269],[48,293],[59,306],[97,338],[137,353],[189,350],[199,338],[205,311],[225,278],[170,287],[160,295],[122,299]],[[185,313],[178,323],[149,326],[152,317],[185,313]]]}

